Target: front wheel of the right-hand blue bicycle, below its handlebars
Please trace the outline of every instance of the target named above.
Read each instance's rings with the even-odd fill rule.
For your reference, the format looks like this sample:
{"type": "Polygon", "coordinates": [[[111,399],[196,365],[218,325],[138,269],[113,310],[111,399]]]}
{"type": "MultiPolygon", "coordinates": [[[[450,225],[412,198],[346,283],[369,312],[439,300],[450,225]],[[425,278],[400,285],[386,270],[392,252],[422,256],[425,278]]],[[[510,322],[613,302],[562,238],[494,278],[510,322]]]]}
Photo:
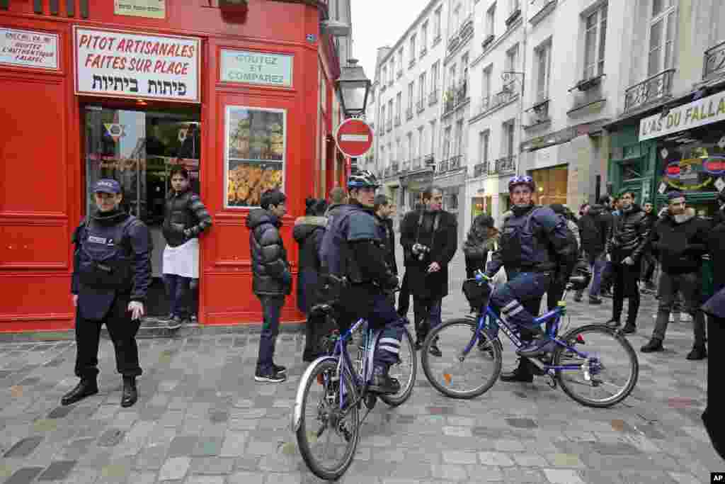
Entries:
{"type": "Polygon", "coordinates": [[[451,398],[482,395],[501,373],[501,342],[490,340],[485,332],[467,355],[463,350],[473,339],[476,323],[470,319],[452,319],[432,329],[421,348],[423,372],[431,385],[451,398]],[[430,353],[436,341],[442,356],[430,353]],[[480,344],[479,344],[480,343],[480,344]]]}

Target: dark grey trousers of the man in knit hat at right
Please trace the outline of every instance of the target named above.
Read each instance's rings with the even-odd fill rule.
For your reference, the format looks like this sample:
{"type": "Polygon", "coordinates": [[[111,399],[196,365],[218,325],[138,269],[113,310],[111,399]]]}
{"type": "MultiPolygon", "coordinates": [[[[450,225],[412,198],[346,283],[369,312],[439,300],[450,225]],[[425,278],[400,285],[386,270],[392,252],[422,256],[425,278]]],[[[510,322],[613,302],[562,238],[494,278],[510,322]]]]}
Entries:
{"type": "Polygon", "coordinates": [[[700,273],[689,274],[660,274],[659,295],[660,303],[657,308],[657,323],[652,337],[663,341],[667,332],[675,299],[678,292],[684,296],[684,309],[692,316],[692,329],[695,333],[695,346],[705,346],[705,315],[700,311],[700,298],[703,291],[703,282],[700,273]]]}

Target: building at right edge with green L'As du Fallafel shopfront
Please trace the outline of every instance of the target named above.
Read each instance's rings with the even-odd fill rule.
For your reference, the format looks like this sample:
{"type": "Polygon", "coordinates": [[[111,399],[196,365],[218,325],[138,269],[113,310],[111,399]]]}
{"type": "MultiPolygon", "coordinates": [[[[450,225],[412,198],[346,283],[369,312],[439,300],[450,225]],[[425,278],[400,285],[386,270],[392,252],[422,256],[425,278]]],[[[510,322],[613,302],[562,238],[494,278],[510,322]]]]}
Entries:
{"type": "Polygon", "coordinates": [[[725,186],[725,4],[637,0],[625,8],[623,75],[607,126],[611,189],[655,205],[678,190],[712,216],[725,186]]]}

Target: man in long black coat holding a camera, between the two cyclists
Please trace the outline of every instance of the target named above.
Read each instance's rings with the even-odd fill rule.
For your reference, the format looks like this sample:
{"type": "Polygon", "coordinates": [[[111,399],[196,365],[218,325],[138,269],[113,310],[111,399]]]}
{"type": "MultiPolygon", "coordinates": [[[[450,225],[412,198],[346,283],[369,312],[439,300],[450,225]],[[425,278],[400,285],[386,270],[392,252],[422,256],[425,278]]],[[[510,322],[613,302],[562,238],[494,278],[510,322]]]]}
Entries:
{"type": "MultiPolygon", "coordinates": [[[[423,192],[423,210],[407,213],[400,226],[400,245],[415,313],[415,348],[441,323],[441,304],[448,295],[448,263],[458,245],[457,221],[443,210],[443,191],[429,186],[423,192]]],[[[441,356],[436,343],[431,354],[441,356]]]]}

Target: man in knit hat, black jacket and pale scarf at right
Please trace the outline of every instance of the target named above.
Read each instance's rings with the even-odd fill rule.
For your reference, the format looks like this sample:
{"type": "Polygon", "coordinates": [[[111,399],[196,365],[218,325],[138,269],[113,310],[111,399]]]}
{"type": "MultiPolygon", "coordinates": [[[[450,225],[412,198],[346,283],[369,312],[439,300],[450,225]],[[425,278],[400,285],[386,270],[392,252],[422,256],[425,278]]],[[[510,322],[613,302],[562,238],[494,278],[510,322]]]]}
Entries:
{"type": "Polygon", "coordinates": [[[682,192],[667,194],[667,212],[650,232],[653,253],[658,255],[660,274],[660,302],[652,339],[642,346],[643,353],[663,350],[667,323],[677,292],[684,296],[685,309],[692,316],[695,344],[688,360],[701,360],[708,356],[705,350],[705,316],[700,310],[703,282],[700,267],[707,252],[708,225],[695,217],[695,210],[685,206],[682,192]]]}

